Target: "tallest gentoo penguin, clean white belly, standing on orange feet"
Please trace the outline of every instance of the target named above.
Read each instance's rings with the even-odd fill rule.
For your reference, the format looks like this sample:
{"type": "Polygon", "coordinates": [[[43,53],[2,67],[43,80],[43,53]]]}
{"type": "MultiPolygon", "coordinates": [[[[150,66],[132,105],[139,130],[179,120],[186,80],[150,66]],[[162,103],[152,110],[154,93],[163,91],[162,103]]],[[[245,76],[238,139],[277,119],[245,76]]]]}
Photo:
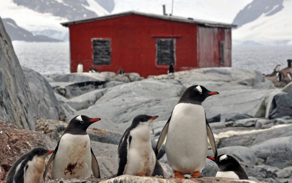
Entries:
{"type": "Polygon", "coordinates": [[[183,174],[192,174],[191,178],[201,177],[208,150],[207,137],[217,158],[215,139],[202,106],[207,97],[217,94],[200,85],[187,88],[162,129],[155,154],[159,153],[167,135],[166,158],[175,178],[185,178],[183,174]]]}

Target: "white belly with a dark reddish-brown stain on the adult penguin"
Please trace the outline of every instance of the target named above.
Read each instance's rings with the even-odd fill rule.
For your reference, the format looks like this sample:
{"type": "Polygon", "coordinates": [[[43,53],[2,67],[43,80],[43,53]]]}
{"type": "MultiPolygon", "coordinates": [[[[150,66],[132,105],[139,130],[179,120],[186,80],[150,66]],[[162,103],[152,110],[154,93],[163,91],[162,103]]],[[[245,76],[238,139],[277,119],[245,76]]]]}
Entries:
{"type": "Polygon", "coordinates": [[[90,177],[90,148],[88,135],[63,135],[53,162],[52,179],[90,177]]]}

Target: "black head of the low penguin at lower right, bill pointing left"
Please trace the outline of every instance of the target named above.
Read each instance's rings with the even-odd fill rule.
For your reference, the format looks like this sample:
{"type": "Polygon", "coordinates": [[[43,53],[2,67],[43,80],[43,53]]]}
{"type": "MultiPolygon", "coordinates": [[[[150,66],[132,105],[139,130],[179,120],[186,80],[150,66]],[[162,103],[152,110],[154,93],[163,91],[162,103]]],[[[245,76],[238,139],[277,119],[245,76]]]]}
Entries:
{"type": "Polygon", "coordinates": [[[218,159],[215,160],[215,158],[211,157],[211,156],[207,156],[208,159],[214,161],[218,167],[224,167],[224,169],[228,169],[228,168],[234,168],[235,166],[239,165],[239,162],[230,155],[227,154],[221,154],[218,156],[218,159]]]}

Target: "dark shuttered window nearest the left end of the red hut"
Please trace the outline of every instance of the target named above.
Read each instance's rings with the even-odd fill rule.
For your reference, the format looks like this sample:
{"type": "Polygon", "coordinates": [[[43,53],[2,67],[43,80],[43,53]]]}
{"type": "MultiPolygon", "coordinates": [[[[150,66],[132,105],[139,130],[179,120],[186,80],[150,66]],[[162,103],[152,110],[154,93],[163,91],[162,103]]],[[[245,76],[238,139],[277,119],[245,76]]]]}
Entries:
{"type": "Polygon", "coordinates": [[[92,39],[93,65],[110,65],[112,61],[110,39],[92,39]]]}

